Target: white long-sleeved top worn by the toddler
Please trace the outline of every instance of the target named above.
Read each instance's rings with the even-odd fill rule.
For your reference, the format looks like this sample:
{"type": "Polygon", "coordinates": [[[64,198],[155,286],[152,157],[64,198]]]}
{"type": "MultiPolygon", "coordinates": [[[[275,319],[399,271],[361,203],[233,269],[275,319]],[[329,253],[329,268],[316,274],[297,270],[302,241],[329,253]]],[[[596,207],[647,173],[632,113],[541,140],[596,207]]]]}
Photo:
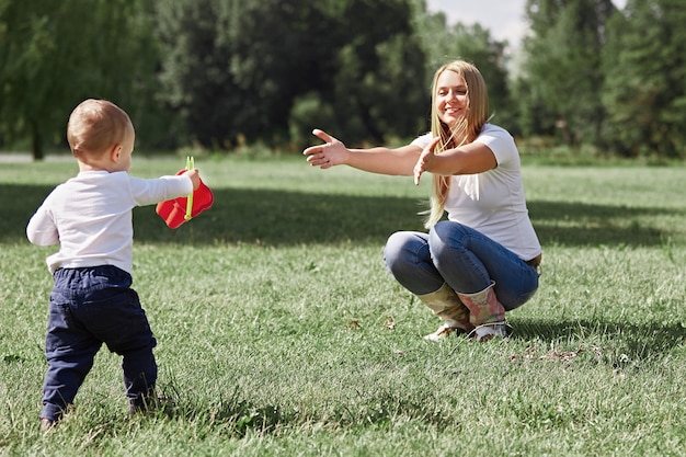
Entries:
{"type": "Polygon", "coordinates": [[[185,175],[144,180],[124,171],[80,172],[45,198],[28,221],[26,236],[37,245],[60,244],[46,260],[50,273],[115,265],[130,274],[132,209],[191,192],[193,183],[185,175]]]}

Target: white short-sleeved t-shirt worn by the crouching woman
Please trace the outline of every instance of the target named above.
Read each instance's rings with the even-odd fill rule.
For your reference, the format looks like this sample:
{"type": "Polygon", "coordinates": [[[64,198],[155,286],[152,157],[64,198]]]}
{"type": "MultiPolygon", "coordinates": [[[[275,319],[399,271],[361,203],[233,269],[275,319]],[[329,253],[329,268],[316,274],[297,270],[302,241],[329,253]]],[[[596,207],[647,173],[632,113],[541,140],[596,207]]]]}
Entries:
{"type": "MultiPolygon", "coordinates": [[[[424,149],[432,138],[428,133],[412,145],[424,149]]],[[[475,141],[493,151],[498,165],[483,173],[451,176],[445,204],[448,219],[479,230],[519,259],[534,259],[541,250],[526,207],[514,138],[504,128],[485,124],[475,141]]]]}

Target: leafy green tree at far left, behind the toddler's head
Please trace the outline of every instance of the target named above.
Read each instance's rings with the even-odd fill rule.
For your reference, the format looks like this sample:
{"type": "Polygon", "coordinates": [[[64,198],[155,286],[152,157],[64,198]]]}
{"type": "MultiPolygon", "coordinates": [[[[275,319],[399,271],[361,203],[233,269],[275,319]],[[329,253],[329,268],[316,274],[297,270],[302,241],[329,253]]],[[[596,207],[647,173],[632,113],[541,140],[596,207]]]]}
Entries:
{"type": "Polygon", "coordinates": [[[140,112],[151,50],[140,1],[0,2],[0,132],[30,138],[33,157],[64,144],[69,113],[89,96],[140,112]]]}

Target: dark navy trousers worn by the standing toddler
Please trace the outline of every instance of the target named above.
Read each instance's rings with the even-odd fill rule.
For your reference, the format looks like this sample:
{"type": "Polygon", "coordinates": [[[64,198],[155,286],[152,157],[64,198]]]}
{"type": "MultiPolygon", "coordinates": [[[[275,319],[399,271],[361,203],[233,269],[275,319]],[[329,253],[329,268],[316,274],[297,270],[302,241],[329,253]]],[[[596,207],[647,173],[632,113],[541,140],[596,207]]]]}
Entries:
{"type": "Polygon", "coordinates": [[[60,269],[53,276],[41,418],[59,420],[72,404],[102,343],[123,356],[126,396],[142,405],[157,381],[157,342],[132,276],[112,265],[60,269]]]}

